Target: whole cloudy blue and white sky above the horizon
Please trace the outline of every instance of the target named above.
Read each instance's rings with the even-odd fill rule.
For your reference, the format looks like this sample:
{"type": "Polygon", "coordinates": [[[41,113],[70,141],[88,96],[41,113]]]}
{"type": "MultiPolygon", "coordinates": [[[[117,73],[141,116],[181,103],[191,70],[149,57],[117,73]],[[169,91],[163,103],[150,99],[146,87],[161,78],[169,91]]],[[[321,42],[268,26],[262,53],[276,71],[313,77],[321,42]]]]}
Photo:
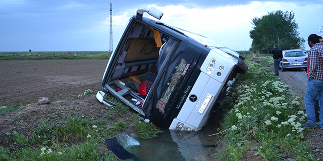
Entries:
{"type": "Polygon", "coordinates": [[[293,11],[305,40],[323,26],[323,0],[0,0],[0,52],[107,51],[110,2],[114,49],[138,8],[155,7],[164,13],[161,22],[233,50],[249,50],[252,19],[271,11],[293,11]]]}

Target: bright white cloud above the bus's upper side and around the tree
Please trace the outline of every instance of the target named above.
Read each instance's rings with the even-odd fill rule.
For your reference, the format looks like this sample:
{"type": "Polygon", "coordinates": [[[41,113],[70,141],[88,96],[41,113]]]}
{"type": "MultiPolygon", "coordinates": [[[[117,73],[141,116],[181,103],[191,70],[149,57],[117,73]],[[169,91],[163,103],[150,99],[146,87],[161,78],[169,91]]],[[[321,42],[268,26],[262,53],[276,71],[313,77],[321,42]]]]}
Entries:
{"type": "MultiPolygon", "coordinates": [[[[293,11],[300,30],[305,26],[323,25],[305,11],[321,12],[322,4],[309,3],[301,6],[301,3],[273,2],[273,1],[252,1],[247,4],[223,5],[223,6],[198,6],[193,4],[165,5],[151,4],[147,8],[155,7],[161,10],[164,15],[160,21],[173,25],[187,31],[206,36],[232,49],[249,49],[252,39],[249,32],[252,30],[252,20],[268,15],[271,11],[282,10],[283,12],[293,11]],[[320,11],[321,10],[321,11],[320,11]],[[307,22],[304,22],[306,20],[307,22]]],[[[149,17],[144,14],[144,17],[149,17]]],[[[152,18],[154,19],[154,18],[152,18]]],[[[313,30],[309,29],[308,30],[313,30]]],[[[316,29],[313,30],[316,32],[316,29]]],[[[312,31],[312,32],[313,32],[312,31]]],[[[300,32],[300,31],[299,31],[300,32]]],[[[308,31],[307,31],[308,32],[308,31]]],[[[300,37],[306,37],[305,32],[300,32],[300,37]]]]}

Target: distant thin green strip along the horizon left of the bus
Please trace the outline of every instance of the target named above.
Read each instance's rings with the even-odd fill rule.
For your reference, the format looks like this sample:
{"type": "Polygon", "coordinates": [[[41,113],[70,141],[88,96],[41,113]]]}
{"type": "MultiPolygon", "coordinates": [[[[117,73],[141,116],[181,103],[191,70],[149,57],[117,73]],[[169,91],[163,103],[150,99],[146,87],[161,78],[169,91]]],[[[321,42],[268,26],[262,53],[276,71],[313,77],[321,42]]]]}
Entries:
{"type": "Polygon", "coordinates": [[[0,52],[0,60],[109,59],[107,51],[75,52],[0,52]]]}

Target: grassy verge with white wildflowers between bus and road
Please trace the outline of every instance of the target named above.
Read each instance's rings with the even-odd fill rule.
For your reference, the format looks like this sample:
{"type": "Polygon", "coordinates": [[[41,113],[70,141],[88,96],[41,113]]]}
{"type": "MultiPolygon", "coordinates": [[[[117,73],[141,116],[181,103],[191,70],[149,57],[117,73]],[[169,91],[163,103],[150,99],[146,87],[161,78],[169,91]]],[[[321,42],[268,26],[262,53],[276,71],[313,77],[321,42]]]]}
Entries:
{"type": "Polygon", "coordinates": [[[301,127],[306,122],[300,97],[288,93],[289,86],[274,76],[271,55],[248,55],[249,69],[238,75],[230,88],[230,98],[217,138],[223,143],[214,153],[220,161],[320,160],[308,146],[301,127]],[[252,61],[251,61],[252,60],[252,61]],[[231,107],[231,108],[227,108],[231,107]]]}

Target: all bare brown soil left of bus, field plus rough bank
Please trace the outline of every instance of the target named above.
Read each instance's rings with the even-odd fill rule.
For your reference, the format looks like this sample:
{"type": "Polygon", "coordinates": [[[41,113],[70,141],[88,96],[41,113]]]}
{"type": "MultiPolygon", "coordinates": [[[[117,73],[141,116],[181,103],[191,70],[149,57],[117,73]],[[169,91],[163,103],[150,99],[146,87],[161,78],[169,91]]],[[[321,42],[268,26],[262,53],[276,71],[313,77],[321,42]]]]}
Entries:
{"type": "MultiPolygon", "coordinates": [[[[9,103],[19,107],[19,110],[0,116],[0,146],[10,150],[21,148],[20,144],[14,144],[13,139],[4,138],[14,131],[30,137],[44,121],[50,127],[67,120],[69,116],[103,118],[109,110],[97,101],[95,94],[102,90],[101,80],[107,63],[108,60],[0,61],[0,106],[8,106],[9,103]],[[88,89],[94,91],[92,96],[78,98],[88,89]],[[51,102],[27,105],[37,104],[39,97],[48,97],[51,102]]],[[[123,121],[133,124],[131,116],[136,113],[129,111],[126,115],[129,118],[123,118],[123,121]]],[[[109,122],[113,124],[119,121],[119,117],[115,115],[109,122]]],[[[106,148],[105,142],[101,142],[100,146],[106,148]]]]}

